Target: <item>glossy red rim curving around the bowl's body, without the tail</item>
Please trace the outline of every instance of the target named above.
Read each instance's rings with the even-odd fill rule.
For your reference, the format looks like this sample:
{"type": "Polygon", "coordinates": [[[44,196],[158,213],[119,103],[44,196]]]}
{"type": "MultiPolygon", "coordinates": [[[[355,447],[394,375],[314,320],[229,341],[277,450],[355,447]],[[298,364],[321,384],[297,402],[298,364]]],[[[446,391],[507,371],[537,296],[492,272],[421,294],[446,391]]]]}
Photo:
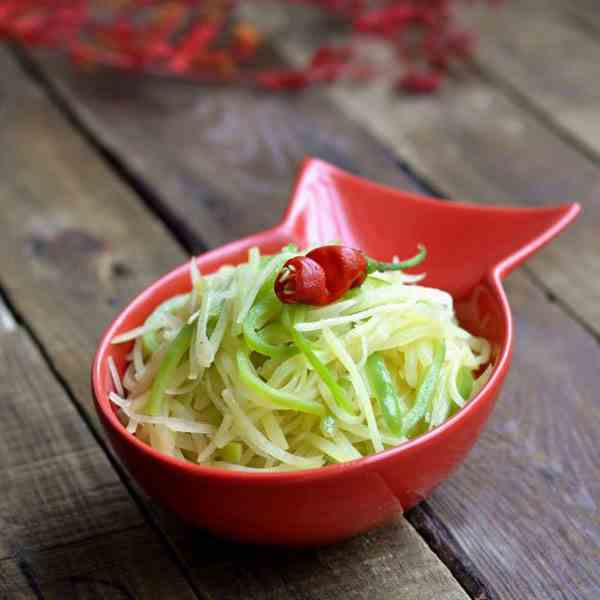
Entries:
{"type": "MultiPolygon", "coordinates": [[[[435,202],[433,199],[432,201],[435,202]]],[[[290,209],[288,208],[284,219],[279,225],[202,253],[201,255],[195,257],[196,260],[202,259],[204,262],[210,260],[211,258],[217,257],[218,266],[216,268],[219,268],[220,266],[227,264],[226,261],[219,261],[219,255],[223,254],[228,256],[233,254],[236,250],[240,250],[241,248],[246,248],[252,245],[257,245],[260,247],[261,245],[264,245],[265,242],[268,242],[277,235],[283,234],[284,237],[289,237],[289,222],[287,218],[289,211],[290,209]]],[[[500,351],[498,353],[496,364],[494,365],[489,381],[483,386],[483,388],[475,397],[473,397],[467,404],[465,404],[465,406],[460,408],[460,410],[458,410],[449,419],[444,421],[444,423],[435,429],[432,429],[431,431],[428,431],[393,448],[387,448],[381,452],[363,456],[346,463],[329,464],[322,467],[314,467],[309,469],[275,472],[267,471],[261,473],[260,471],[234,471],[223,469],[221,467],[184,461],[155,450],[148,444],[139,440],[135,435],[129,433],[119,421],[116,412],[112,408],[112,403],[108,398],[109,390],[105,389],[103,384],[103,381],[106,381],[106,377],[102,372],[102,364],[105,357],[110,355],[112,338],[115,337],[116,332],[121,324],[127,319],[128,315],[136,308],[147,304],[157,290],[168,284],[171,280],[181,277],[182,272],[189,269],[189,260],[169,271],[167,274],[163,275],[154,283],[146,287],[125,306],[125,308],[102,333],[94,356],[91,372],[91,387],[96,408],[101,413],[105,424],[110,424],[112,431],[116,433],[123,442],[132,445],[137,451],[148,455],[150,458],[152,458],[154,461],[158,461],[158,463],[162,464],[164,467],[175,470],[183,470],[191,476],[203,476],[210,479],[219,479],[231,483],[262,482],[265,484],[288,484],[293,482],[336,479],[340,476],[354,473],[359,470],[374,468],[379,463],[388,462],[398,458],[401,455],[422,450],[423,448],[436,443],[439,438],[448,435],[452,430],[460,428],[461,423],[467,420],[472,413],[478,411],[480,409],[480,405],[489,399],[497,387],[502,383],[502,380],[504,379],[510,366],[514,337],[512,313],[501,281],[504,267],[505,266],[503,264],[496,265],[480,280],[480,283],[486,282],[489,286],[489,289],[494,293],[499,303],[501,318],[504,320],[504,331],[503,338],[500,343],[500,351]]],[[[212,272],[212,269],[209,272],[212,272]]]]}

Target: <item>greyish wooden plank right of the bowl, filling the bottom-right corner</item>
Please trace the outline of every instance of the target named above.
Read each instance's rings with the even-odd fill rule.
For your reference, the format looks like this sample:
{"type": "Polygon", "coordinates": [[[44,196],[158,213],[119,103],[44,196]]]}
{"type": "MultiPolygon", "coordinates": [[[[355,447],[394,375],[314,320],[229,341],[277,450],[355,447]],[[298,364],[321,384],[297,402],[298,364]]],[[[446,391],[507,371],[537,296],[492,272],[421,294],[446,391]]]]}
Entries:
{"type": "Polygon", "coordinates": [[[600,349],[526,277],[511,375],[470,459],[430,500],[499,598],[600,593],[600,349]],[[510,576],[509,576],[510,575],[510,576]]]}

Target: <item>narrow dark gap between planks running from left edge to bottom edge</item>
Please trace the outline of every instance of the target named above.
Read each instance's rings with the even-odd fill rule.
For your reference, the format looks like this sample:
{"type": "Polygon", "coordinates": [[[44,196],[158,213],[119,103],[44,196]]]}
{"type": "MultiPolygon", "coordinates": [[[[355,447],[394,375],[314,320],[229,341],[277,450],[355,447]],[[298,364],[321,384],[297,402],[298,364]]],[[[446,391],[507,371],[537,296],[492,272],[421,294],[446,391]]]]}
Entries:
{"type": "MultiPolygon", "coordinates": [[[[101,450],[106,455],[109,463],[111,464],[113,469],[116,471],[117,476],[119,477],[119,479],[125,486],[125,489],[128,491],[132,500],[135,502],[136,506],[140,510],[142,516],[144,517],[146,524],[151,528],[151,530],[153,530],[156,533],[156,535],[158,536],[158,539],[162,542],[162,545],[165,547],[167,556],[169,556],[171,558],[175,567],[179,569],[179,571],[183,575],[183,577],[184,577],[186,583],[188,584],[190,590],[192,591],[192,593],[198,598],[198,600],[208,600],[209,596],[206,593],[201,592],[196,587],[194,582],[192,581],[185,564],[180,559],[175,548],[173,547],[173,545],[171,545],[166,534],[163,533],[161,528],[158,526],[158,524],[155,521],[149,508],[147,508],[145,503],[143,502],[141,495],[135,490],[135,488],[129,482],[129,476],[127,475],[124,467],[122,467],[121,464],[116,460],[112,451],[108,447],[108,444],[100,436],[100,434],[94,427],[92,420],[88,417],[88,415],[86,414],[83,407],[77,401],[75,393],[73,392],[71,386],[66,381],[66,379],[63,377],[63,375],[60,372],[60,370],[58,369],[58,367],[54,364],[54,361],[52,360],[52,358],[46,351],[41,340],[37,337],[36,333],[33,331],[31,326],[25,321],[23,315],[18,310],[16,304],[13,302],[13,300],[10,297],[10,295],[8,294],[7,290],[0,282],[0,304],[2,304],[2,303],[4,303],[4,305],[6,306],[6,309],[9,311],[9,313],[13,317],[14,321],[23,330],[23,332],[25,332],[27,334],[27,336],[29,337],[29,339],[31,340],[33,345],[35,346],[36,350],[40,353],[40,356],[41,356],[42,360],[44,361],[44,363],[46,364],[47,368],[49,369],[50,373],[56,379],[58,384],[61,386],[61,388],[63,389],[67,398],[73,405],[73,408],[75,409],[75,411],[77,412],[79,417],[83,420],[85,426],[91,433],[92,437],[94,438],[96,443],[100,446],[101,450]]],[[[141,526],[141,525],[139,525],[139,526],[141,526]]],[[[113,533],[113,532],[111,532],[111,533],[113,533]]],[[[118,533],[118,532],[114,532],[114,533],[118,533]]]]}

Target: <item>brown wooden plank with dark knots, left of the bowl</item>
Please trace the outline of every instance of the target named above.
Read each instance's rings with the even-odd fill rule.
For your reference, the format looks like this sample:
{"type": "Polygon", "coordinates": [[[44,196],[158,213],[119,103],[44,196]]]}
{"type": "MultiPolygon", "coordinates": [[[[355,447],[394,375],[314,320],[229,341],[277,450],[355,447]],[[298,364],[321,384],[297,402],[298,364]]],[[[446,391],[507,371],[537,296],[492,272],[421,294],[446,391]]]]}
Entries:
{"type": "Polygon", "coordinates": [[[18,272],[28,265],[37,278],[38,293],[26,280],[13,290],[21,298],[19,310],[44,322],[59,370],[81,369],[74,391],[92,414],[89,358],[102,324],[185,254],[95,151],[69,132],[43,94],[21,83],[14,61],[6,53],[0,61],[3,145],[11,148],[0,154],[0,222],[3,230],[12,228],[3,232],[3,243],[16,238],[16,246],[3,252],[3,266],[18,272]],[[6,208],[11,203],[18,205],[15,212],[6,208]],[[121,207],[117,217],[109,215],[111,206],[121,207]],[[69,306],[60,311],[63,319],[49,315],[52,302],[40,301],[41,289],[54,308],[69,306]]]}

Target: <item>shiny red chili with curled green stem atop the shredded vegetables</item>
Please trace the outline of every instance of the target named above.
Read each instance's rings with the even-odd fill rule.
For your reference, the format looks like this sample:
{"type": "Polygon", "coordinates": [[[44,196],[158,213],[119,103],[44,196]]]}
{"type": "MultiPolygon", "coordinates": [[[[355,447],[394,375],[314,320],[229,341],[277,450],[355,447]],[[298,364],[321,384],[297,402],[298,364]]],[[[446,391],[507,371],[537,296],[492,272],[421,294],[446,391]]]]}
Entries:
{"type": "Polygon", "coordinates": [[[349,246],[320,246],[305,256],[290,258],[283,265],[275,279],[275,294],[285,304],[330,304],[362,285],[369,273],[414,267],[426,255],[425,247],[419,246],[416,256],[399,263],[386,263],[349,246]]]}

